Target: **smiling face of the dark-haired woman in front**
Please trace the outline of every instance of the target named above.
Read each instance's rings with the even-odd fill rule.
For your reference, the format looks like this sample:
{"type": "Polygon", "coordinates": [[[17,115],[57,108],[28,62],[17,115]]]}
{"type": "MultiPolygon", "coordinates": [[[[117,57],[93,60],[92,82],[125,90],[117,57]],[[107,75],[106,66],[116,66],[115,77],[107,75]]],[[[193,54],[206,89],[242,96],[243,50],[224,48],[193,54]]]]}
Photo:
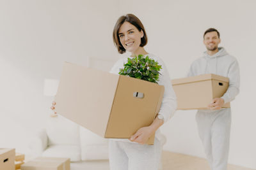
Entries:
{"type": "Polygon", "coordinates": [[[140,47],[141,38],[143,38],[143,31],[138,31],[138,29],[129,22],[124,22],[121,25],[118,36],[122,46],[125,50],[131,53],[135,53],[140,47]]]}

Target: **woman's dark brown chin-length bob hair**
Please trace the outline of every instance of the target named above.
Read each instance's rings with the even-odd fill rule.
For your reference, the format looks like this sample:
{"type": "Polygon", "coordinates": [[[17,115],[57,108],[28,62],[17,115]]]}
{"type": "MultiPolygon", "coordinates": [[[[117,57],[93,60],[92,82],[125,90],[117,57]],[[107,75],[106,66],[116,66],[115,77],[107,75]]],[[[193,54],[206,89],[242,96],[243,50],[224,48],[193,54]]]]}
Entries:
{"type": "Polygon", "coordinates": [[[118,50],[118,53],[126,52],[126,50],[125,50],[124,46],[122,46],[119,36],[118,36],[118,31],[119,31],[120,27],[122,26],[122,24],[124,24],[124,22],[129,22],[130,24],[134,25],[138,29],[138,31],[142,30],[144,33],[144,36],[143,36],[143,38],[141,38],[140,46],[147,45],[148,38],[147,38],[147,34],[146,34],[143,24],[141,23],[139,18],[137,18],[135,15],[129,13],[127,15],[123,15],[123,16],[119,17],[118,20],[116,21],[115,27],[113,29],[113,41],[118,50]]]}

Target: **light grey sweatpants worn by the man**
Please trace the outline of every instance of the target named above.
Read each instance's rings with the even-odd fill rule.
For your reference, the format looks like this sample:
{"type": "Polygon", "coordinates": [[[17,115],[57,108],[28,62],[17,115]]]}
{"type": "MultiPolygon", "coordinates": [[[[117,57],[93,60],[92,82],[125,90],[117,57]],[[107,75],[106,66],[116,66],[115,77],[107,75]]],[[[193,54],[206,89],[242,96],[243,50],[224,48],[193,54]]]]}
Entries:
{"type": "Polygon", "coordinates": [[[199,136],[212,170],[227,170],[231,110],[198,111],[199,136]]]}

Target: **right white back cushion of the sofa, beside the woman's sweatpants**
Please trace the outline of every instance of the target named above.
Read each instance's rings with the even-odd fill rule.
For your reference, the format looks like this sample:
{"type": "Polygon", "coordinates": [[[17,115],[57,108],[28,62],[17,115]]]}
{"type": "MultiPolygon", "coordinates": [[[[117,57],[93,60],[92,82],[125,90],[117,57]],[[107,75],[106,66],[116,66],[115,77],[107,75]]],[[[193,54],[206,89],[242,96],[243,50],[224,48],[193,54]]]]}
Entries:
{"type": "Polygon", "coordinates": [[[80,127],[81,160],[108,159],[108,139],[80,127]]]}

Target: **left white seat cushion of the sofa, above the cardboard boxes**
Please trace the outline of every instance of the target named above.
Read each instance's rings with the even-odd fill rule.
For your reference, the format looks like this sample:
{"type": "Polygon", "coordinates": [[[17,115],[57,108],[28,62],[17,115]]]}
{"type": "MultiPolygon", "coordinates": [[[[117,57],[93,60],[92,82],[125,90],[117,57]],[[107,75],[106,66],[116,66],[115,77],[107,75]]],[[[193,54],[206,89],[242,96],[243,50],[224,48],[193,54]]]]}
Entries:
{"type": "Polygon", "coordinates": [[[52,145],[42,154],[43,157],[70,158],[70,161],[81,160],[79,146],[76,145],[52,145]]]}

